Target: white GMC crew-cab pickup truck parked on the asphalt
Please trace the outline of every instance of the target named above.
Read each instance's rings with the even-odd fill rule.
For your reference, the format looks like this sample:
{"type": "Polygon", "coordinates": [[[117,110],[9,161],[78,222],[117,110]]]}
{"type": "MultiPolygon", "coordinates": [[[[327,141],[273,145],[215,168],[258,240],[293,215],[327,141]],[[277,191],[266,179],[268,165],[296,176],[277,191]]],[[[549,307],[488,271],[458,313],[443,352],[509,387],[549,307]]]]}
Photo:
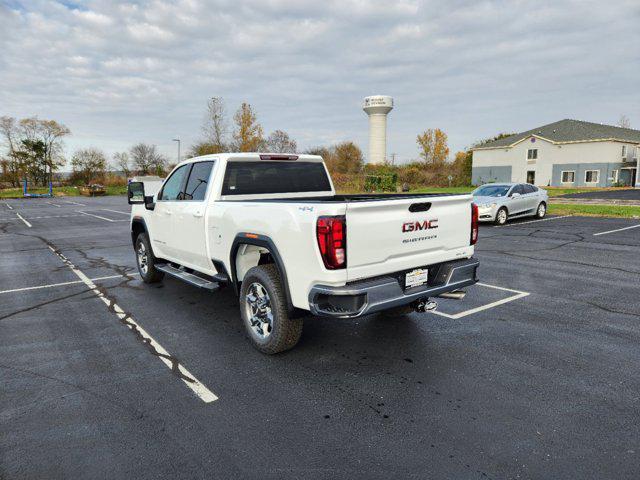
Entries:
{"type": "Polygon", "coordinates": [[[129,184],[144,282],[229,284],[253,344],[292,348],[302,317],[352,318],[477,282],[470,195],[336,195],[321,157],[235,153],[180,163],[154,196],[129,184]]]}

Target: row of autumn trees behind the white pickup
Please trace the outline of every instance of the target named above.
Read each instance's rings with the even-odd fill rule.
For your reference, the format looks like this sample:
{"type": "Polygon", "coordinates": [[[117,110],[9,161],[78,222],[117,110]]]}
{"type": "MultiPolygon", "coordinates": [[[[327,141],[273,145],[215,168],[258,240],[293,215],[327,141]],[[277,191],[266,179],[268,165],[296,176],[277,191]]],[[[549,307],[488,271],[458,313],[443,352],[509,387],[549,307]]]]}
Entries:
{"type": "MultiPolygon", "coordinates": [[[[187,150],[189,157],[223,152],[298,152],[297,142],[284,130],[265,135],[254,108],[242,102],[231,120],[222,97],[207,101],[200,139],[187,150]]],[[[45,184],[64,164],[64,139],[71,135],[65,125],[55,120],[37,117],[16,119],[0,117],[0,135],[6,154],[0,157],[0,182],[18,186],[22,179],[45,184]]],[[[475,143],[485,142],[509,134],[475,143]]],[[[343,141],[330,146],[317,146],[300,153],[321,155],[338,188],[362,190],[370,177],[392,178],[392,182],[375,183],[375,188],[396,189],[436,185],[469,185],[471,183],[471,148],[455,153],[450,160],[447,134],[439,128],[429,128],[416,137],[418,155],[415,159],[394,165],[365,163],[358,145],[343,141]]],[[[111,159],[96,147],[81,148],[70,159],[70,181],[75,184],[100,182],[108,171],[131,175],[164,176],[173,168],[156,145],[138,143],[128,151],[116,152],[111,159]]]]}

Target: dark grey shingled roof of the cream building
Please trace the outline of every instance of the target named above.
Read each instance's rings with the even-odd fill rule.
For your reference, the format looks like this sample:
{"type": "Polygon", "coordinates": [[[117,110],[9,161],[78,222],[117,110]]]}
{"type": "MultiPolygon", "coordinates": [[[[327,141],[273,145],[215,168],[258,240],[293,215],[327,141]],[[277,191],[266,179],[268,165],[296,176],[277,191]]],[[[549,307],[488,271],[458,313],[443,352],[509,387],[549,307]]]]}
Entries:
{"type": "Polygon", "coordinates": [[[588,142],[594,140],[619,140],[629,143],[640,143],[640,130],[567,118],[532,130],[527,130],[526,132],[516,133],[508,137],[487,142],[479,145],[476,149],[510,147],[532,135],[550,140],[554,143],[588,142]]]}

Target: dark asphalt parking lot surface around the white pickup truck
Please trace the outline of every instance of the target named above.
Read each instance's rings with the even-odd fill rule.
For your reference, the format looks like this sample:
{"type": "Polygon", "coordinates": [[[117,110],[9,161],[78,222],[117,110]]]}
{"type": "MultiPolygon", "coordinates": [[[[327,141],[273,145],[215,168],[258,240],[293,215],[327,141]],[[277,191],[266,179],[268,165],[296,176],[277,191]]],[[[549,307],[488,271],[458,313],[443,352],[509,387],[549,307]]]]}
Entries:
{"type": "Polygon", "coordinates": [[[463,301],[269,357],[127,212],[0,201],[0,478],[638,478],[639,220],[483,226],[463,301]]]}

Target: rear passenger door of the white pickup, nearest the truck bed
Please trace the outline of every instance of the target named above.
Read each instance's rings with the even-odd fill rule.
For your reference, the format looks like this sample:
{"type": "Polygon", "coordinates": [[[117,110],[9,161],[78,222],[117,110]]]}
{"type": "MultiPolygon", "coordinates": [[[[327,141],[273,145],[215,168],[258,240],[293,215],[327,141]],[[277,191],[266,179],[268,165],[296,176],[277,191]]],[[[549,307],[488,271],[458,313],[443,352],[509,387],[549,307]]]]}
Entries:
{"type": "Polygon", "coordinates": [[[203,271],[211,269],[211,259],[207,255],[205,213],[214,164],[214,161],[205,161],[190,165],[171,234],[171,250],[176,252],[176,258],[187,266],[203,271]]]}

